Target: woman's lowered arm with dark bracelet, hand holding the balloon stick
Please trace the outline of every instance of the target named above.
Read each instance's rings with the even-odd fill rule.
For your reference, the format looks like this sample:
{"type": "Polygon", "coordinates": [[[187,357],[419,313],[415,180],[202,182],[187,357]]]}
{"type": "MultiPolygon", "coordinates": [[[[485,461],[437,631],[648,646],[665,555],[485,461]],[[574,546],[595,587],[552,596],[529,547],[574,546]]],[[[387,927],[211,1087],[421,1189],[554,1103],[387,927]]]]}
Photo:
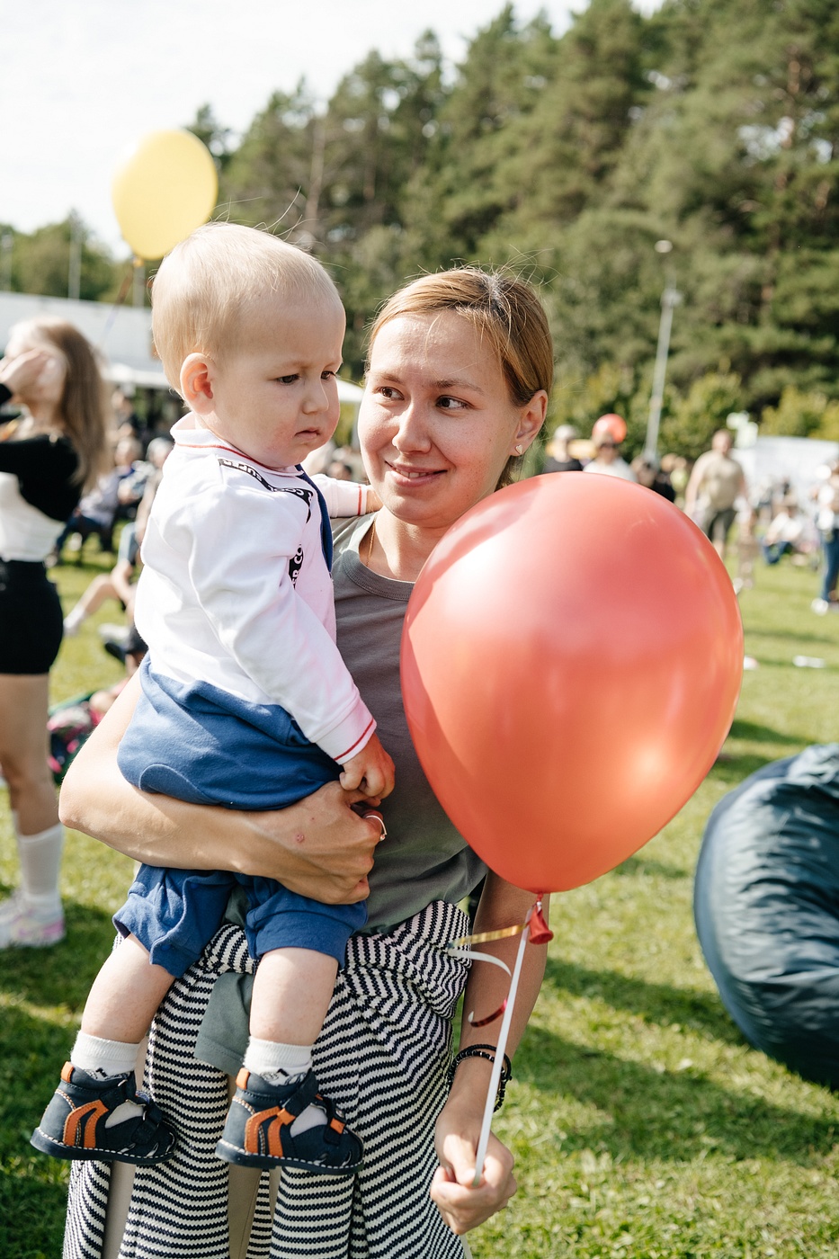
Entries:
{"type": "MultiPolygon", "coordinates": [[[[533,893],[513,888],[490,872],[475,915],[475,933],[523,923],[533,900],[533,893]]],[[[547,909],[547,901],[544,908],[547,909]]],[[[513,969],[519,943],[520,938],[513,935],[481,944],[481,951],[503,958],[513,969]]],[[[510,1058],[515,1053],[539,995],[545,956],[547,949],[538,944],[528,946],[525,949],[508,1041],[510,1058]]],[[[466,1016],[474,1011],[480,1019],[498,1010],[508,995],[509,985],[509,976],[500,967],[486,962],[472,964],[464,997],[461,1049],[467,1045],[495,1044],[500,1022],[477,1029],[472,1027],[466,1016]]],[[[460,1063],[448,1100],[437,1119],[436,1146],[440,1167],[435,1173],[431,1196],[448,1228],[457,1234],[467,1233],[482,1224],[505,1207],[515,1194],[513,1155],[494,1136],[490,1137],[481,1183],[472,1187],[475,1155],[491,1068],[493,1064],[481,1058],[467,1058],[460,1063]]]]}

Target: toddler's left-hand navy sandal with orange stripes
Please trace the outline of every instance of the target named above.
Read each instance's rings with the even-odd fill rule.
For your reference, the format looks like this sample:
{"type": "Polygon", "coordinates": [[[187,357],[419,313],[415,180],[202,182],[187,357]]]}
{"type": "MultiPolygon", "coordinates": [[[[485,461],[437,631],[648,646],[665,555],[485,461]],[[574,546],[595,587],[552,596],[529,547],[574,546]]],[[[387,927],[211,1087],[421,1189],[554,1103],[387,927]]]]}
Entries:
{"type": "Polygon", "coordinates": [[[31,1134],[31,1144],[53,1158],[149,1166],[169,1158],[175,1133],[150,1097],[139,1093],[134,1071],[101,1080],[66,1063],[62,1083],[31,1134]],[[121,1105],[142,1107],[110,1127],[121,1105]]]}

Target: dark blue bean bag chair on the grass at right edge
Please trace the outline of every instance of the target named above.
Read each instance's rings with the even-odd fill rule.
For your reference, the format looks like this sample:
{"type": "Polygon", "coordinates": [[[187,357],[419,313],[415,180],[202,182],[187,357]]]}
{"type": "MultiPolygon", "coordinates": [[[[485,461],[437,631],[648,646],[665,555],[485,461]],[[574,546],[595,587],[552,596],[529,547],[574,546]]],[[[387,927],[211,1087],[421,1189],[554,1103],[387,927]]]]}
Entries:
{"type": "Polygon", "coordinates": [[[765,765],[719,801],[694,917],[750,1044],[839,1089],[839,743],[765,765]]]}

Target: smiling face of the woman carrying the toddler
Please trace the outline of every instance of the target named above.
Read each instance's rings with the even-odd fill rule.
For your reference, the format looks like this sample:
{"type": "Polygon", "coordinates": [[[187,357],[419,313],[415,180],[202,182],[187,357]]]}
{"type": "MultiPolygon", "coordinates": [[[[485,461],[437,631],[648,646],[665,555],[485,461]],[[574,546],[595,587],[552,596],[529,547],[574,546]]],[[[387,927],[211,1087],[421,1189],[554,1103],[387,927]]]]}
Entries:
{"type": "Polygon", "coordinates": [[[501,364],[469,320],[404,315],[379,331],[359,410],[364,465],[404,524],[447,529],[491,494],[544,417],[540,390],[517,407],[501,364]]]}

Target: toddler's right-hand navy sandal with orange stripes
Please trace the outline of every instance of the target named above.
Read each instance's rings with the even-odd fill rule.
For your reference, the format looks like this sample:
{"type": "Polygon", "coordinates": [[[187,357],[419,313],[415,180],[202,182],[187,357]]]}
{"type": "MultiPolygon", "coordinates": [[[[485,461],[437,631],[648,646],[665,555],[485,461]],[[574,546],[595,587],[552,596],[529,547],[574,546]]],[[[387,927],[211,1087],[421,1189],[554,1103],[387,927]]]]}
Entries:
{"type": "Polygon", "coordinates": [[[317,1092],[314,1071],[291,1084],[268,1084],[242,1068],[236,1095],[215,1153],[243,1167],[304,1167],[346,1175],[362,1166],[363,1147],[335,1103],[317,1092]],[[326,1122],[292,1136],[306,1107],[319,1107],[326,1122]]]}

